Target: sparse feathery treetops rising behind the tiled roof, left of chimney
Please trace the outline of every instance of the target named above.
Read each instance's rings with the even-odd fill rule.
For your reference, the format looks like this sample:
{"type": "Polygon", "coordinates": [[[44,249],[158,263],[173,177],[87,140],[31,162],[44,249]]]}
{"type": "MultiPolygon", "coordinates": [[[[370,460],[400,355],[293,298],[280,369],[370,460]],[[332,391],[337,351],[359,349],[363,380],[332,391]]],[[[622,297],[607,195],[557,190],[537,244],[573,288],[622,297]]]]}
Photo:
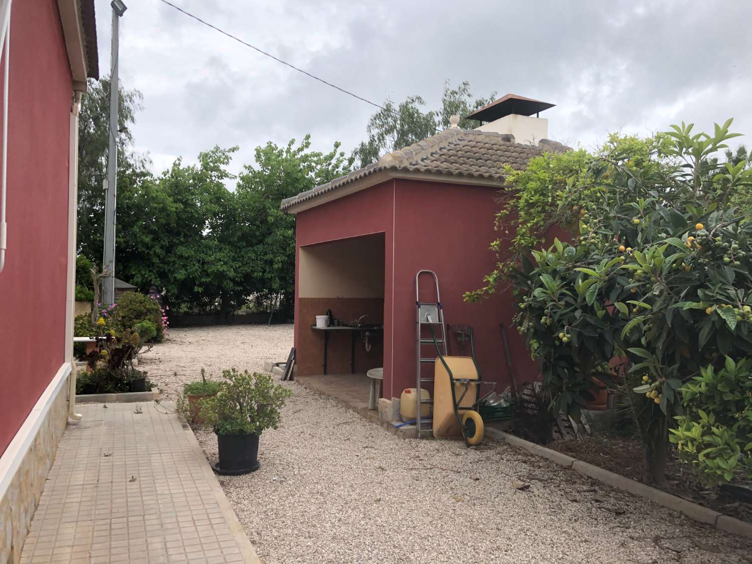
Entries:
{"type": "MultiPolygon", "coordinates": [[[[453,115],[464,117],[472,111],[493,101],[496,92],[489,98],[472,99],[470,83],[466,80],[452,88],[444,83],[441,109],[423,111],[425,100],[420,96],[408,96],[405,102],[395,104],[391,99],[384,102],[384,109],[371,116],[366,126],[368,139],[353,151],[353,159],[359,168],[378,161],[379,157],[393,150],[407,147],[421,139],[435,135],[439,128],[449,127],[453,115]]],[[[465,129],[477,127],[478,123],[462,119],[459,126],[465,129]]]]}

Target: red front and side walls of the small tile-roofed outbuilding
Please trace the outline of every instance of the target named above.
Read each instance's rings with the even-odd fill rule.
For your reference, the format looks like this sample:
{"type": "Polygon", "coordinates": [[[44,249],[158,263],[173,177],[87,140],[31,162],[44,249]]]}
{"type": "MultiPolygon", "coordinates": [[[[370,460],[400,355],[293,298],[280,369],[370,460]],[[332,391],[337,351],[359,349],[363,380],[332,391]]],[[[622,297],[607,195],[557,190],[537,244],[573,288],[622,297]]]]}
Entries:
{"type": "MultiPolygon", "coordinates": [[[[481,285],[496,262],[489,244],[498,236],[494,229],[498,190],[396,178],[297,214],[298,256],[305,245],[384,232],[384,397],[399,397],[406,387],[415,387],[415,274],[421,269],[438,274],[445,321],[475,328],[475,351],[484,380],[496,381],[502,390],[511,385],[499,323],[508,328],[517,381],[535,379],[535,363],[520,335],[510,328],[511,296],[499,293],[478,303],[462,299],[465,291],[481,285]]],[[[311,308],[310,300],[297,296],[296,291],[299,375],[320,374],[321,337],[310,325],[315,314],[323,313],[323,302],[314,302],[311,308]]],[[[457,350],[454,342],[450,350],[457,350]]],[[[349,362],[349,352],[330,344],[330,357],[343,355],[349,362]]]]}

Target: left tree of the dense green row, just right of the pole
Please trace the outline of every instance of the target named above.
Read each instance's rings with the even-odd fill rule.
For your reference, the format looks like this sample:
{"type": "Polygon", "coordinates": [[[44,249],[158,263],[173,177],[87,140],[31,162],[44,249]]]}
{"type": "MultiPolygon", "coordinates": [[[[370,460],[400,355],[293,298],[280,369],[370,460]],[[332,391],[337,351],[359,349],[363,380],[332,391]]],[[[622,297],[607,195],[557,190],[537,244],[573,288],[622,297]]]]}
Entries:
{"type": "Polygon", "coordinates": [[[247,296],[247,241],[223,236],[235,217],[225,182],[237,147],[199,154],[199,165],[180,159],[159,178],[123,186],[118,202],[118,272],[138,287],[164,287],[171,305],[214,311],[234,309],[247,296]]]}

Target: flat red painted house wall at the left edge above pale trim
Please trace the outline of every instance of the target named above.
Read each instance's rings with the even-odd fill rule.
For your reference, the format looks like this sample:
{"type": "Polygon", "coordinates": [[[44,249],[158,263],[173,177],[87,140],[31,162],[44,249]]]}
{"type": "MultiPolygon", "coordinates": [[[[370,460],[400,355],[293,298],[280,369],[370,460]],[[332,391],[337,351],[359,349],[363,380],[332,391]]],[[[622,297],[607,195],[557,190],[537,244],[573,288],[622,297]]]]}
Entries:
{"type": "Polygon", "coordinates": [[[57,3],[14,2],[8,250],[0,273],[0,454],[65,359],[71,92],[57,3]]]}

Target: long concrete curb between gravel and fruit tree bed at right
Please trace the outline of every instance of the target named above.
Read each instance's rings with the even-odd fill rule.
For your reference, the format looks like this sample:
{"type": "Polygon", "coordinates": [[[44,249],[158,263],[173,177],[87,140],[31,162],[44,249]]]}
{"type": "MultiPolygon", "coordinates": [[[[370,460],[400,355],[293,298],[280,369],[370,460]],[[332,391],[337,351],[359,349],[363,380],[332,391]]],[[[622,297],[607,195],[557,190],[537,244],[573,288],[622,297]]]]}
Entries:
{"type": "Polygon", "coordinates": [[[496,438],[498,441],[505,441],[508,444],[512,444],[515,447],[522,447],[529,453],[543,456],[556,464],[566,466],[566,468],[572,468],[580,474],[595,478],[598,481],[613,486],[619,490],[632,493],[635,496],[640,496],[645,499],[650,499],[651,502],[655,502],[658,505],[672,509],[674,511],[680,511],[687,515],[691,519],[699,521],[700,523],[706,523],[718,529],[719,531],[731,532],[735,535],[741,535],[744,537],[752,538],[752,524],[744,523],[729,517],[712,509],[704,508],[702,505],[697,505],[693,502],[688,502],[686,499],[681,499],[677,496],[672,496],[670,493],[656,490],[654,487],[646,486],[640,482],[624,478],[614,472],[608,472],[603,468],[582,462],[581,460],[572,458],[572,456],[566,456],[566,454],[558,453],[556,450],[550,448],[541,447],[540,444],[531,443],[523,438],[515,437],[498,429],[490,427],[486,428],[486,434],[490,437],[496,438]]]}

